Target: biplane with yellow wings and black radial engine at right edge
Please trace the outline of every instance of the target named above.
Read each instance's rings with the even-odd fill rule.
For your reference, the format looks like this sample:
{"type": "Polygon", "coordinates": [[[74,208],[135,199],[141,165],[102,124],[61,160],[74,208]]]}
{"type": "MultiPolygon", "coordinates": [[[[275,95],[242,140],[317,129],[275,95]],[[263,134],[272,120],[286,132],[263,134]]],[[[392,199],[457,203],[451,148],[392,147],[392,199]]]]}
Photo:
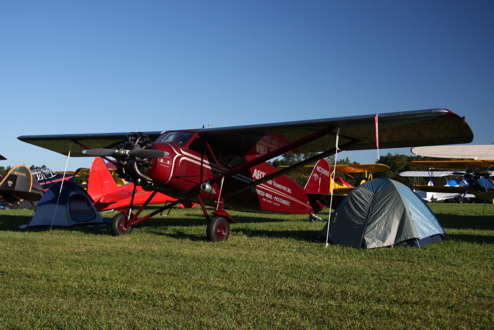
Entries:
{"type": "Polygon", "coordinates": [[[462,198],[466,194],[476,196],[478,193],[494,191],[494,181],[490,179],[490,167],[494,165],[494,161],[414,161],[408,162],[409,165],[418,168],[432,169],[462,169],[463,171],[453,172],[453,175],[460,175],[461,179],[456,182],[455,186],[433,186],[433,185],[414,185],[413,189],[444,194],[462,195],[458,198],[461,203],[462,198]],[[480,168],[487,168],[480,170],[480,168]]]}

